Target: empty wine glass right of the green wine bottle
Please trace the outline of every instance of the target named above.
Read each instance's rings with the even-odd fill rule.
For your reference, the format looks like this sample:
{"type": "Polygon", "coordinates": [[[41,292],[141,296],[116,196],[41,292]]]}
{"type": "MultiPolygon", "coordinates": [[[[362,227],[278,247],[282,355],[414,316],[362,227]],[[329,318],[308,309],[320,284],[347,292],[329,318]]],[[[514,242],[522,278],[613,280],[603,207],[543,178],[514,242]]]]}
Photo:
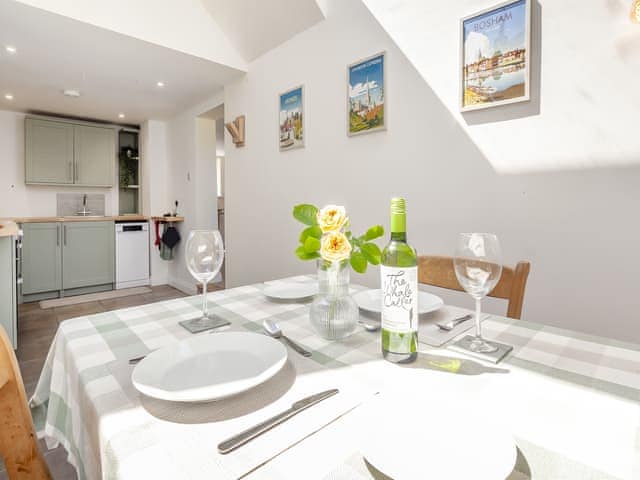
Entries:
{"type": "Polygon", "coordinates": [[[472,352],[492,353],[498,347],[482,338],[480,310],[482,298],[500,280],[502,263],[500,242],[493,233],[461,233],[453,259],[456,277],[462,288],[476,301],[476,335],[469,349],[472,352]]]}

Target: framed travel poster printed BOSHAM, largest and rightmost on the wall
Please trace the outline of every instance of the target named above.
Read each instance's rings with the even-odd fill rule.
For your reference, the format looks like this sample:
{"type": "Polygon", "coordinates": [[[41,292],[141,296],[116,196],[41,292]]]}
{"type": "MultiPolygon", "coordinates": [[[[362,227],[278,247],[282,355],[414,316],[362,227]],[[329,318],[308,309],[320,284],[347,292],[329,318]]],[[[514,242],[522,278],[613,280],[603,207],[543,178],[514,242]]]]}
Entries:
{"type": "Polygon", "coordinates": [[[461,21],[460,110],[529,100],[531,5],[511,0],[461,21]]]}

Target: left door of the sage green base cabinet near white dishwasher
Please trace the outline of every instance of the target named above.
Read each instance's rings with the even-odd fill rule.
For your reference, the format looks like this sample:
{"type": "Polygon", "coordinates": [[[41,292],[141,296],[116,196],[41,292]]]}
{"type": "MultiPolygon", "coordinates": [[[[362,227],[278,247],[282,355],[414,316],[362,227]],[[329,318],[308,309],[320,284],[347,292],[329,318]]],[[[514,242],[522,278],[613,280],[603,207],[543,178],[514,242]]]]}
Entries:
{"type": "Polygon", "coordinates": [[[62,290],[62,226],[25,223],[22,226],[22,295],[62,290]]]}

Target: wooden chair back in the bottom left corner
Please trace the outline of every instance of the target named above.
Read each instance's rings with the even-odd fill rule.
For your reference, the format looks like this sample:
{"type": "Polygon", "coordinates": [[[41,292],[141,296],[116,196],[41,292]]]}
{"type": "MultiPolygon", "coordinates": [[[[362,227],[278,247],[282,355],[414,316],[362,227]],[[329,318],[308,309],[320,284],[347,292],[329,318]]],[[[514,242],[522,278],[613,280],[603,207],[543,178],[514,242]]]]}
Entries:
{"type": "Polygon", "coordinates": [[[0,326],[0,456],[11,480],[50,479],[38,448],[22,375],[6,332],[0,326]]]}

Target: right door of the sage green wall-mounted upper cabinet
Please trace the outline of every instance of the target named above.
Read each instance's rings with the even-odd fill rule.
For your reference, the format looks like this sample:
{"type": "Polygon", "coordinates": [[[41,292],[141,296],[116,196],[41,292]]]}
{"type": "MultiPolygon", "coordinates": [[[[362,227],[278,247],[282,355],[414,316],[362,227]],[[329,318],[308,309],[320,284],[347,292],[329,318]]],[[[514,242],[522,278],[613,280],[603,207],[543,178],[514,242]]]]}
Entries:
{"type": "Polygon", "coordinates": [[[111,128],[74,127],[75,183],[111,187],[114,183],[116,134],[111,128]]]}

